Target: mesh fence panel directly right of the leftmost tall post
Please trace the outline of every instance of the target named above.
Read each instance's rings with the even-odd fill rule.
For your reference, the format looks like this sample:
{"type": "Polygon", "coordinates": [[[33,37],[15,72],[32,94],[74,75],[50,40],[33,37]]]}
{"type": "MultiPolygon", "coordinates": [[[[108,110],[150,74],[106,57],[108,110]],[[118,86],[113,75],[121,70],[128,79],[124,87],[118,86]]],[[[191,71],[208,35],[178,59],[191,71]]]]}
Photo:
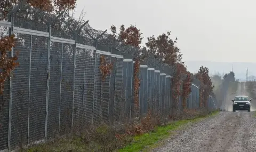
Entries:
{"type": "MultiPolygon", "coordinates": [[[[31,35],[15,33],[19,37],[13,54],[19,52],[19,67],[13,71],[11,149],[28,143],[28,101],[30,77],[31,35]]],[[[9,102],[9,101],[8,101],[9,102]]],[[[2,115],[1,115],[2,116],[2,115]]],[[[6,135],[7,138],[7,135],[6,135]]]]}

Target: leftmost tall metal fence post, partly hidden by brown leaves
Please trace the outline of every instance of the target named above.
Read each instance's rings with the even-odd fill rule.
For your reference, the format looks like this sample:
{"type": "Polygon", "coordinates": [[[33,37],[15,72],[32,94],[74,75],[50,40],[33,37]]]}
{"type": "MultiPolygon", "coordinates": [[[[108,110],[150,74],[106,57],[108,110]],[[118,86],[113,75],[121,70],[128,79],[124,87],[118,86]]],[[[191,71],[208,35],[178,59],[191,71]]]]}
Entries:
{"type": "MultiPolygon", "coordinates": [[[[9,35],[13,34],[13,14],[11,14],[11,30],[9,35]]],[[[13,47],[11,51],[11,58],[13,57],[13,47]]],[[[9,98],[9,126],[8,126],[8,148],[11,151],[11,125],[12,125],[12,78],[13,72],[10,75],[10,98],[9,98]]]]}

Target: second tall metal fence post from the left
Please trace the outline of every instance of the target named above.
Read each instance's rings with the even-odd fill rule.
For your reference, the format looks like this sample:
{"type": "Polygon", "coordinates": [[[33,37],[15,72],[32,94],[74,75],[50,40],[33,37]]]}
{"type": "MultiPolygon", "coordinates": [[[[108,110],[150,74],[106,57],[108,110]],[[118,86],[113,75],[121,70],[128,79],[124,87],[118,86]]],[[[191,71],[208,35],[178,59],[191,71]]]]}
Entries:
{"type": "Polygon", "coordinates": [[[48,122],[48,105],[49,105],[49,84],[50,84],[50,51],[51,51],[51,25],[49,25],[48,38],[48,58],[47,58],[47,86],[46,86],[46,112],[45,112],[45,141],[47,140],[47,122],[48,122]]]}

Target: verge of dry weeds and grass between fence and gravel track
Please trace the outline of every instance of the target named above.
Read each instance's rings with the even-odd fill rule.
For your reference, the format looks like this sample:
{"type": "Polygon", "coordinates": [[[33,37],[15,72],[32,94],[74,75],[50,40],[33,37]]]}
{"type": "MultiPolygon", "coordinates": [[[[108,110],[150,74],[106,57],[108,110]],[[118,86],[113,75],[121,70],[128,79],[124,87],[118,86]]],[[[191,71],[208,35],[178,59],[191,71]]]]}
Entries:
{"type": "Polygon", "coordinates": [[[139,121],[123,122],[112,126],[106,124],[90,126],[83,129],[82,133],[59,137],[53,141],[20,149],[20,151],[149,151],[160,146],[159,141],[170,137],[172,131],[181,129],[188,123],[216,115],[218,112],[186,109],[182,114],[175,117],[169,115],[167,118],[159,115],[153,117],[149,113],[139,121]]]}

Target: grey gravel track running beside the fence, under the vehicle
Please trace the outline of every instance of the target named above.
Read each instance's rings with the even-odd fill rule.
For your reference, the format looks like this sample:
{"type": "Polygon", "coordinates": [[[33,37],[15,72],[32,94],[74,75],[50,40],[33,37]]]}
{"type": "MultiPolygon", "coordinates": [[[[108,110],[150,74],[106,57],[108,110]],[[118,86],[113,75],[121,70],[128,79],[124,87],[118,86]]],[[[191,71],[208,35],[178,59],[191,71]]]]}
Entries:
{"type": "MultiPolygon", "coordinates": [[[[237,93],[246,94],[244,83],[239,84],[237,93]]],[[[154,151],[256,151],[254,113],[231,112],[231,101],[226,104],[230,111],[222,111],[217,116],[191,124],[154,151]]]]}

